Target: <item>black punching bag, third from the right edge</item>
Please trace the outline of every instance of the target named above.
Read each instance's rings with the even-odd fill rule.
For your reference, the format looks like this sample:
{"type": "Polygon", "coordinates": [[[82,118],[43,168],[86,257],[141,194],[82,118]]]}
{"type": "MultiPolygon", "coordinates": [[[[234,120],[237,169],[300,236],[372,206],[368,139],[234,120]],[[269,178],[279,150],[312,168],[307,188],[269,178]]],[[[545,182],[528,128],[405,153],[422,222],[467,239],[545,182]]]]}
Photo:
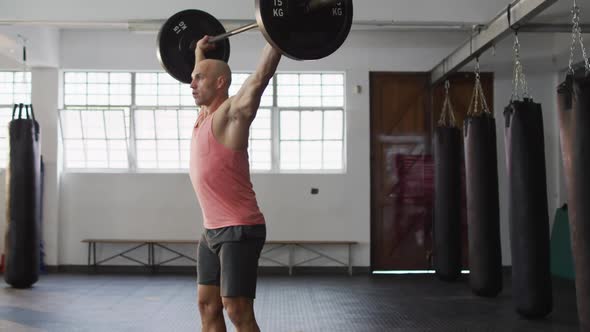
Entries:
{"type": "Polygon", "coordinates": [[[489,113],[464,122],[469,283],[479,296],[502,290],[496,123],[489,113]]]}

